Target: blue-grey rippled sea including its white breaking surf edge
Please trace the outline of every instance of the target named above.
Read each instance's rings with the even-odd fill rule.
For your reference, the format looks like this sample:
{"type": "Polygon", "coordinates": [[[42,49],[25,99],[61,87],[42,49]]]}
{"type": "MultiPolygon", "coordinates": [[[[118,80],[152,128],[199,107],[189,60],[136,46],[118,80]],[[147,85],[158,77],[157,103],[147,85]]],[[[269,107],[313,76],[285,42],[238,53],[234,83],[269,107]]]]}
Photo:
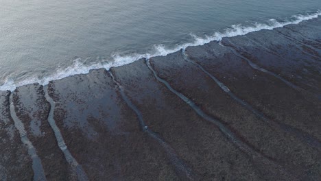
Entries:
{"type": "Polygon", "coordinates": [[[0,0],[0,90],[321,16],[320,0],[0,0]]]}

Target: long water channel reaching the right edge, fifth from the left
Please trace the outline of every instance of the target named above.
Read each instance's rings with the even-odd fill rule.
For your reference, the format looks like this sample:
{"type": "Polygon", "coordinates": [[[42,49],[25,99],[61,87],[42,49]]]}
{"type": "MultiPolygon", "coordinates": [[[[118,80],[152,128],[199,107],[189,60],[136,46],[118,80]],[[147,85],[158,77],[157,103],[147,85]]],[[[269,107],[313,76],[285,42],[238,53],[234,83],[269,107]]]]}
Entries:
{"type": "Polygon", "coordinates": [[[250,104],[248,104],[246,101],[243,101],[242,99],[240,99],[239,97],[237,97],[234,93],[232,93],[230,91],[230,89],[224,85],[222,82],[220,82],[215,76],[213,76],[211,73],[209,73],[208,71],[206,71],[200,64],[198,64],[197,62],[191,60],[189,58],[189,56],[187,55],[185,49],[181,50],[182,52],[182,56],[184,58],[184,60],[186,60],[187,62],[190,62],[191,64],[194,64],[196,67],[198,67],[202,72],[206,73],[206,75],[209,75],[209,77],[211,77],[211,79],[220,87],[222,88],[222,90],[227,93],[232,99],[234,99],[235,101],[237,101],[239,104],[241,104],[244,108],[246,108],[247,110],[250,110],[250,112],[252,112],[253,114],[255,114],[259,119],[263,120],[265,123],[267,123],[270,127],[274,127],[274,128],[281,128],[281,130],[286,131],[286,132],[290,132],[291,134],[294,134],[294,136],[298,137],[301,141],[303,141],[304,143],[308,143],[309,145],[311,145],[312,147],[317,147],[318,149],[321,149],[321,142],[317,139],[314,138],[313,136],[302,132],[296,128],[292,128],[292,126],[290,125],[286,125],[283,123],[278,123],[277,121],[273,121],[271,119],[269,119],[268,117],[266,117],[262,112],[260,112],[259,110],[256,110],[255,108],[253,108],[250,104]]]}

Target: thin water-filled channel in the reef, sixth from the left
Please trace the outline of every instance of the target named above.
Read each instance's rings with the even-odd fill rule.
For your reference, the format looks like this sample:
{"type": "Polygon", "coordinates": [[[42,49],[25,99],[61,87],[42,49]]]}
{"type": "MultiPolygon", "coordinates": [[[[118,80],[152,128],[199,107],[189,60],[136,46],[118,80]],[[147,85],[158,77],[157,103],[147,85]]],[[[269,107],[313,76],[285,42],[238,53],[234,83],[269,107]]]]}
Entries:
{"type": "MultiPolygon", "coordinates": [[[[226,39],[227,40],[227,39],[226,39]]],[[[228,41],[231,45],[234,45],[233,43],[231,43],[230,41],[228,41]]],[[[301,88],[292,84],[291,82],[285,80],[283,77],[281,77],[280,75],[277,75],[276,73],[273,73],[272,71],[268,71],[266,69],[263,69],[261,67],[259,67],[259,65],[254,64],[254,62],[252,62],[251,60],[249,60],[248,58],[242,56],[240,53],[238,53],[233,47],[229,47],[224,45],[224,47],[228,47],[230,48],[231,51],[233,51],[233,53],[235,54],[235,56],[242,58],[243,60],[246,60],[246,62],[248,62],[248,64],[250,65],[250,67],[252,67],[252,69],[256,69],[258,71],[261,71],[263,73],[267,73],[269,75],[272,75],[273,77],[276,77],[278,80],[281,80],[282,82],[284,82],[285,84],[287,84],[287,86],[294,88],[295,90],[300,91],[301,88]]]]}

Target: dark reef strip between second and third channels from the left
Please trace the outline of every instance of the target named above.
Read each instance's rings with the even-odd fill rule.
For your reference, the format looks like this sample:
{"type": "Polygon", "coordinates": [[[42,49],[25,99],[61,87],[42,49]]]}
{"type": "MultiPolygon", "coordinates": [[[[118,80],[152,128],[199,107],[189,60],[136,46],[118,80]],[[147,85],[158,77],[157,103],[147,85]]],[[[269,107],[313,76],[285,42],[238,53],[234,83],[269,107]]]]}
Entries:
{"type": "Polygon", "coordinates": [[[49,95],[56,124],[89,180],[178,180],[106,70],[51,82],[49,95]]]}

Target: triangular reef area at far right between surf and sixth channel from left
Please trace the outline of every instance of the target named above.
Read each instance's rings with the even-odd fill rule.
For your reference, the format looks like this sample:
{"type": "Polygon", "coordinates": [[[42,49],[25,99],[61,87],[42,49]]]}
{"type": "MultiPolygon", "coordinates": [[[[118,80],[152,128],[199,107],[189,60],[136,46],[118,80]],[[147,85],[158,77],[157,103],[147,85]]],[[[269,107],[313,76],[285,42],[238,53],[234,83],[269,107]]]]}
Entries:
{"type": "MultiPolygon", "coordinates": [[[[320,19],[313,19],[309,25],[320,23],[320,19]]],[[[313,36],[315,41],[320,40],[320,29],[309,26],[309,32],[302,32],[302,36],[296,34],[295,29],[302,31],[302,28],[293,25],[273,31],[262,30],[246,36],[224,38],[222,45],[236,49],[238,53],[260,67],[320,96],[321,84],[318,84],[321,81],[320,47],[313,47],[313,43],[302,40],[302,36],[313,36]]]]}

